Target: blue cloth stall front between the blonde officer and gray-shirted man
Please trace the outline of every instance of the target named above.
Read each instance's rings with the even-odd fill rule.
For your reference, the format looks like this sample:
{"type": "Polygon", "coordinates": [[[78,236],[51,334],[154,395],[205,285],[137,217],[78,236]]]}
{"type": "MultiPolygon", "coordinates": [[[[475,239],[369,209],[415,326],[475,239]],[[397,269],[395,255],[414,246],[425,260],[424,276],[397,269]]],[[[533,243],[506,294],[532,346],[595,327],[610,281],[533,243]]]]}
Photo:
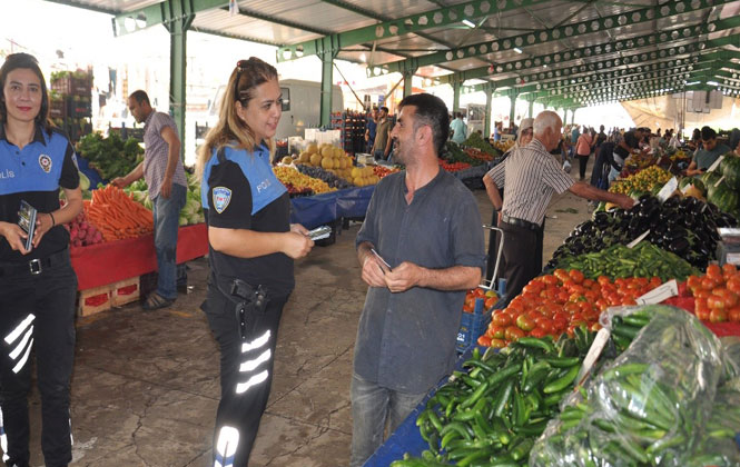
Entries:
{"type": "Polygon", "coordinates": [[[375,186],[290,199],[290,222],[313,229],[343,217],[364,217],[375,186]]]}

